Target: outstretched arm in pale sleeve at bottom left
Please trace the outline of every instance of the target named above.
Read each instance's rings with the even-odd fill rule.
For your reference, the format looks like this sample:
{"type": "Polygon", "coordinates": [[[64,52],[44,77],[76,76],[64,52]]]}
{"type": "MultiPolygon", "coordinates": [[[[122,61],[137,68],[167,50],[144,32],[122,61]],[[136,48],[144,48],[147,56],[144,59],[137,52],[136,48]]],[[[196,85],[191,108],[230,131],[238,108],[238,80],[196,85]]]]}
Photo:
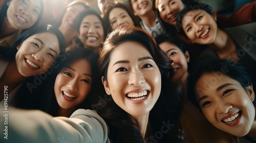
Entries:
{"type": "MultiPolygon", "coordinates": [[[[3,126],[6,125],[1,123],[1,132],[4,131],[3,126]]],[[[52,117],[38,110],[15,109],[9,111],[8,139],[1,137],[0,142],[71,143],[109,140],[105,122],[92,110],[78,109],[68,118],[52,117]]]]}

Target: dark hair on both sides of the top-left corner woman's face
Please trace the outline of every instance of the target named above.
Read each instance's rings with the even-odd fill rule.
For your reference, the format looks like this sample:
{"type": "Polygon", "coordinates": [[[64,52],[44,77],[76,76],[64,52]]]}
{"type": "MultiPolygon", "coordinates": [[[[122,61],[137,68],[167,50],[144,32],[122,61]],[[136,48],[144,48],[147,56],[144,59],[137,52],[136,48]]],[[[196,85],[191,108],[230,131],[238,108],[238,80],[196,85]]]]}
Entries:
{"type": "MultiPolygon", "coordinates": [[[[9,8],[7,6],[7,3],[10,3],[11,1],[12,0],[4,0],[4,2],[1,5],[1,8],[0,8],[0,29],[2,28],[3,23],[6,20],[7,9],[9,8]]],[[[34,23],[34,25],[32,27],[38,26],[38,24],[39,24],[39,22],[42,18],[42,14],[44,13],[44,2],[43,2],[43,0],[37,0],[37,1],[40,1],[40,13],[38,15],[38,18],[37,18],[36,22],[34,23]]]]}

